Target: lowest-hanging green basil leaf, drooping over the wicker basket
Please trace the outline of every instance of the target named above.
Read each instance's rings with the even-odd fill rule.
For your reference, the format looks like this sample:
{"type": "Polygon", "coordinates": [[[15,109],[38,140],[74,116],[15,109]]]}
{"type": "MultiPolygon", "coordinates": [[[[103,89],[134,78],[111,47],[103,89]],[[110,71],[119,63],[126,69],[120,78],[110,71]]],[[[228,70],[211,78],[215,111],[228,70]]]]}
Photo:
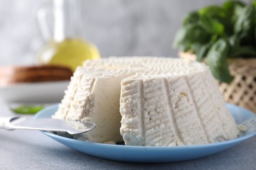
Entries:
{"type": "Polygon", "coordinates": [[[215,78],[221,82],[230,83],[233,77],[230,75],[228,70],[228,42],[224,39],[219,39],[213,46],[211,46],[209,52],[207,53],[206,62],[211,69],[211,73],[215,78]]]}

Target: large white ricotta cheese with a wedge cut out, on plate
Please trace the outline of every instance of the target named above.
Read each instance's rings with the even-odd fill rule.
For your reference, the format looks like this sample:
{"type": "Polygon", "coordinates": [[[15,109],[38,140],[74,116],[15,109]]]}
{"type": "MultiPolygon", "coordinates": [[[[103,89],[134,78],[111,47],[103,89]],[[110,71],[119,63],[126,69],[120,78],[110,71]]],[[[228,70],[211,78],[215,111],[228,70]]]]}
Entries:
{"type": "Polygon", "coordinates": [[[209,68],[186,59],[87,60],[53,118],[91,120],[75,138],[136,146],[215,143],[238,136],[209,68]]]}

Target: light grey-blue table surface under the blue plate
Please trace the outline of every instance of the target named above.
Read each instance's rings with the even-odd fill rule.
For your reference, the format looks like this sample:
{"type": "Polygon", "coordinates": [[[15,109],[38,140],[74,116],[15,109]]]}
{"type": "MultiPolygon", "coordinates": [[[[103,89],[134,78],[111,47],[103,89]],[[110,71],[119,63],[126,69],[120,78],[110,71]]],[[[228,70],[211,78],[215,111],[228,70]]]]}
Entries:
{"type": "MultiPolygon", "coordinates": [[[[0,116],[12,116],[0,103],[0,116]]],[[[95,158],[68,148],[40,131],[0,129],[0,169],[256,169],[256,137],[197,160],[127,163],[95,158]]]]}

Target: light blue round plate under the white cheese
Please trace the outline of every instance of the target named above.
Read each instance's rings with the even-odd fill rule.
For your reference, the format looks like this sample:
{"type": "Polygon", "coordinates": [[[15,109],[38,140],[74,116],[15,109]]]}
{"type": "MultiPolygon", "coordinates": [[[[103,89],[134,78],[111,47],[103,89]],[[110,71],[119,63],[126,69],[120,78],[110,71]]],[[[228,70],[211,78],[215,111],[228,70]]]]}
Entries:
{"type": "MultiPolygon", "coordinates": [[[[249,110],[243,109],[235,105],[227,104],[228,109],[236,119],[238,124],[245,120],[249,120],[256,116],[249,110]]],[[[50,118],[51,115],[58,109],[58,105],[53,105],[41,110],[35,115],[35,118],[50,118]]],[[[145,163],[163,163],[173,161],[185,161],[203,156],[209,156],[217,152],[226,150],[236,144],[242,143],[245,140],[253,137],[256,131],[238,137],[230,141],[223,141],[219,143],[200,144],[190,146],[124,146],[116,144],[102,144],[90,143],[85,141],[78,141],[55,135],[48,131],[43,131],[45,135],[54,140],[85,154],[96,156],[98,158],[105,158],[116,161],[130,161],[130,162],[145,162],[145,163]]]]}

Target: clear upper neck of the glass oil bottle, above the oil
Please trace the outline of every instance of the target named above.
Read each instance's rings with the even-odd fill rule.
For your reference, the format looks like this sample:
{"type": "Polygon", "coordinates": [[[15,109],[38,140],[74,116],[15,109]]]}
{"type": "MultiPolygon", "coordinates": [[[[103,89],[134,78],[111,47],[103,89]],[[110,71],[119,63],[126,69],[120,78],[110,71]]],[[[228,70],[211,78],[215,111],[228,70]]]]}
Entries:
{"type": "Polygon", "coordinates": [[[80,7],[77,0],[54,0],[54,41],[83,37],[80,7]]]}

